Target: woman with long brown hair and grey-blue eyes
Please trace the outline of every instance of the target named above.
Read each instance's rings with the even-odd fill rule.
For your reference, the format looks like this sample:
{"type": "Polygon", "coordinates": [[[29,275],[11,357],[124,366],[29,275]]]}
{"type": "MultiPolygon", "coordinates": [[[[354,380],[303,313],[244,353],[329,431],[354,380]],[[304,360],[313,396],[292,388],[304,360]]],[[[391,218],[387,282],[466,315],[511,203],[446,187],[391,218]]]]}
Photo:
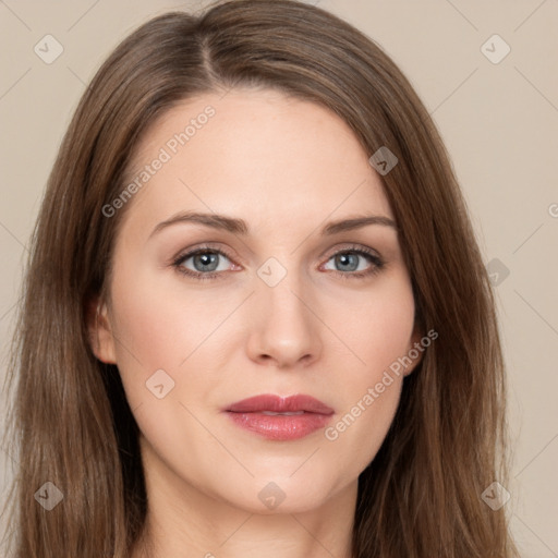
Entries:
{"type": "Polygon", "coordinates": [[[465,203],[407,78],[318,8],[168,13],[110,54],[12,374],[17,558],[517,556],[465,203]]]}

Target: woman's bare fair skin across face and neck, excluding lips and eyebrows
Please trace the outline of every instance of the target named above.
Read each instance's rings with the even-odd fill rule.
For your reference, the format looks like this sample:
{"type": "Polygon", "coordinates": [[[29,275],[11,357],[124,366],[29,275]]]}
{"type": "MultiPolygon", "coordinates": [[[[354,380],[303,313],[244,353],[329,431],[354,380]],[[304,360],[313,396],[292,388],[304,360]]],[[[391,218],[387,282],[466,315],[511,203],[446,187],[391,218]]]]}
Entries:
{"type": "MultiPolygon", "coordinates": [[[[393,214],[348,125],[270,89],[205,94],[171,109],[131,168],[156,158],[207,105],[216,114],[128,202],[110,295],[92,325],[95,353],[118,365],[141,429],[149,509],[134,558],[349,557],[359,474],[422,355],[335,440],[324,429],[268,440],[221,409],[259,393],[307,393],[335,410],[335,425],[413,348],[421,333],[396,229],[319,234],[326,221],[393,214]],[[250,234],[182,222],[151,235],[183,210],[242,218],[250,234]],[[173,258],[205,242],[231,255],[216,256],[221,276],[180,274],[173,258]],[[353,244],[384,267],[350,277],[375,267],[353,244]],[[341,248],[351,262],[333,256],[341,248]],[[269,257],[287,271],[275,287],[257,275],[269,257]],[[162,399],[146,388],[158,369],[174,380],[162,399]],[[275,509],[258,498],[270,482],[286,496],[275,509]]],[[[180,265],[207,274],[204,264],[180,265]]]]}

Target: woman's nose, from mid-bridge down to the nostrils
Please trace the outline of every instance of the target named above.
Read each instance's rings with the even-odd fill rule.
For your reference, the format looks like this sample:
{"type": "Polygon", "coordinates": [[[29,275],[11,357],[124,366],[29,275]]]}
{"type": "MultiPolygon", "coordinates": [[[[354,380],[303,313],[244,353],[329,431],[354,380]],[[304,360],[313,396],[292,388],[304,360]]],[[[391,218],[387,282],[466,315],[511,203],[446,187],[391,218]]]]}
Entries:
{"type": "Polygon", "coordinates": [[[322,353],[319,308],[294,272],[275,287],[258,281],[252,296],[250,357],[277,368],[307,366],[322,353]]]}

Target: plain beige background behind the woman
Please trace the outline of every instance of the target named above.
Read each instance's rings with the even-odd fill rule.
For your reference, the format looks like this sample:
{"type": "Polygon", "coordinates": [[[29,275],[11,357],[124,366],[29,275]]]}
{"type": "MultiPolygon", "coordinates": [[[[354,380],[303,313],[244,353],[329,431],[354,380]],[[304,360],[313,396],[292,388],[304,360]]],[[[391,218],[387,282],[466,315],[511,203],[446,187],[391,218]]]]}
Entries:
{"type": "MultiPolygon", "coordinates": [[[[495,284],[514,447],[506,509],[522,556],[556,557],[558,1],[313,3],[364,31],[410,78],[447,143],[485,263],[492,270],[495,265],[509,269],[495,284]],[[492,57],[499,56],[502,44],[492,40],[482,49],[494,34],[511,48],[498,63],[483,52],[488,48],[492,57]]],[[[0,379],[22,258],[48,172],[85,84],[117,43],[148,17],[204,5],[0,0],[0,379]],[[51,64],[34,52],[47,34],[63,46],[51,64]]],[[[2,500],[13,463],[1,448],[2,500]]]]}

